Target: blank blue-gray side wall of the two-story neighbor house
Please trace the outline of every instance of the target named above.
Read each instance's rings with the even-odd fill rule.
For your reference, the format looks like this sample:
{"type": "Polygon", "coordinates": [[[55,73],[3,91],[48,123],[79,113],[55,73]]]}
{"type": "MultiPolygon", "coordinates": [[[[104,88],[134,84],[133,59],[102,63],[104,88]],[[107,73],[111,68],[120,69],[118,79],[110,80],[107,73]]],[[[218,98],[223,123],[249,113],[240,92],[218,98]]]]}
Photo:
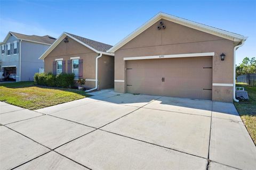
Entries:
{"type": "Polygon", "coordinates": [[[49,47],[50,45],[21,41],[21,81],[33,81],[39,68],[44,68],[43,60],[38,58],[49,47]]]}

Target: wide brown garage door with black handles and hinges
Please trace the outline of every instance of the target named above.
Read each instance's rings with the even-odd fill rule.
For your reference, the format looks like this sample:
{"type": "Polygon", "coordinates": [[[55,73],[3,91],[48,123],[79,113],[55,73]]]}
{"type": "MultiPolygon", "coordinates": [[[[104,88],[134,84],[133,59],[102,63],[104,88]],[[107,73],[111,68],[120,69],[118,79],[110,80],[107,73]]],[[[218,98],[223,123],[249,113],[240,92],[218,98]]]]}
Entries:
{"type": "Polygon", "coordinates": [[[126,61],[127,92],[211,99],[212,57],[126,61]]]}

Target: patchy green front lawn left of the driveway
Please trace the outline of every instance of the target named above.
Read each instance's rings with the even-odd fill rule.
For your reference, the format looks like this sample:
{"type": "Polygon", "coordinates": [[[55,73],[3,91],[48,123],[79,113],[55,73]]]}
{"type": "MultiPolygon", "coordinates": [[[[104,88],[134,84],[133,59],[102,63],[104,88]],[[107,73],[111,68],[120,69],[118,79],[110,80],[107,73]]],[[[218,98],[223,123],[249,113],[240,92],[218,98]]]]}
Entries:
{"type": "Polygon", "coordinates": [[[38,87],[31,81],[0,84],[0,101],[30,110],[89,96],[86,92],[76,89],[38,87]]]}

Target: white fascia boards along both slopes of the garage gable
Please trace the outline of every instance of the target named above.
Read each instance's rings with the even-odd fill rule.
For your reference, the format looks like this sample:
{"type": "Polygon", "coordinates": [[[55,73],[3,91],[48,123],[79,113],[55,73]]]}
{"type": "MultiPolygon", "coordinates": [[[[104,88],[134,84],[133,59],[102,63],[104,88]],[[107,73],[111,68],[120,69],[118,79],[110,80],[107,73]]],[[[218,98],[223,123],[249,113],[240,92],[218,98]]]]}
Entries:
{"type": "Polygon", "coordinates": [[[178,23],[178,24],[181,24],[181,25],[185,25],[186,27],[190,27],[190,28],[193,28],[193,29],[196,29],[196,30],[207,32],[207,33],[210,33],[212,35],[219,36],[219,37],[222,37],[222,38],[226,38],[226,39],[229,39],[229,40],[232,40],[232,41],[242,41],[242,40],[246,40],[246,38],[247,38],[247,37],[244,37],[242,35],[238,35],[238,34],[233,33],[233,32],[228,32],[228,31],[225,31],[225,30],[210,27],[210,26],[207,26],[207,25],[204,25],[204,24],[201,24],[201,23],[189,21],[189,20],[186,20],[186,19],[178,18],[177,16],[173,16],[173,15],[169,15],[169,14],[165,14],[165,13],[160,12],[157,15],[155,15],[153,18],[151,18],[149,21],[147,21],[146,23],[141,25],[141,27],[139,27],[138,29],[133,31],[130,35],[126,36],[123,40],[119,41],[119,43],[117,43],[115,46],[113,46],[112,48],[107,50],[107,52],[108,53],[114,53],[117,49],[124,46],[126,43],[131,41],[133,38],[137,37],[141,32],[145,31],[146,29],[151,27],[151,25],[153,25],[154,23],[156,23],[157,21],[159,21],[161,19],[165,19],[165,20],[175,22],[175,23],[178,23]]]}

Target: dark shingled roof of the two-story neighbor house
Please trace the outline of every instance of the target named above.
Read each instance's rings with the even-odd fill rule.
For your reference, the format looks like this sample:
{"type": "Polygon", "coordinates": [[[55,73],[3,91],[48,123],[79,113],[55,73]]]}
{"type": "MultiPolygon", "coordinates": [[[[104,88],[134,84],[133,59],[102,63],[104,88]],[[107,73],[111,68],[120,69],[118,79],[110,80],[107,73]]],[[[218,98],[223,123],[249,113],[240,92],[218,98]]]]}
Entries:
{"type": "Polygon", "coordinates": [[[29,40],[29,41],[36,41],[38,43],[45,43],[45,44],[53,44],[56,38],[53,38],[51,36],[28,36],[28,35],[23,35],[21,33],[17,32],[10,32],[13,36],[17,37],[18,39],[23,39],[23,40],[29,40]]]}

